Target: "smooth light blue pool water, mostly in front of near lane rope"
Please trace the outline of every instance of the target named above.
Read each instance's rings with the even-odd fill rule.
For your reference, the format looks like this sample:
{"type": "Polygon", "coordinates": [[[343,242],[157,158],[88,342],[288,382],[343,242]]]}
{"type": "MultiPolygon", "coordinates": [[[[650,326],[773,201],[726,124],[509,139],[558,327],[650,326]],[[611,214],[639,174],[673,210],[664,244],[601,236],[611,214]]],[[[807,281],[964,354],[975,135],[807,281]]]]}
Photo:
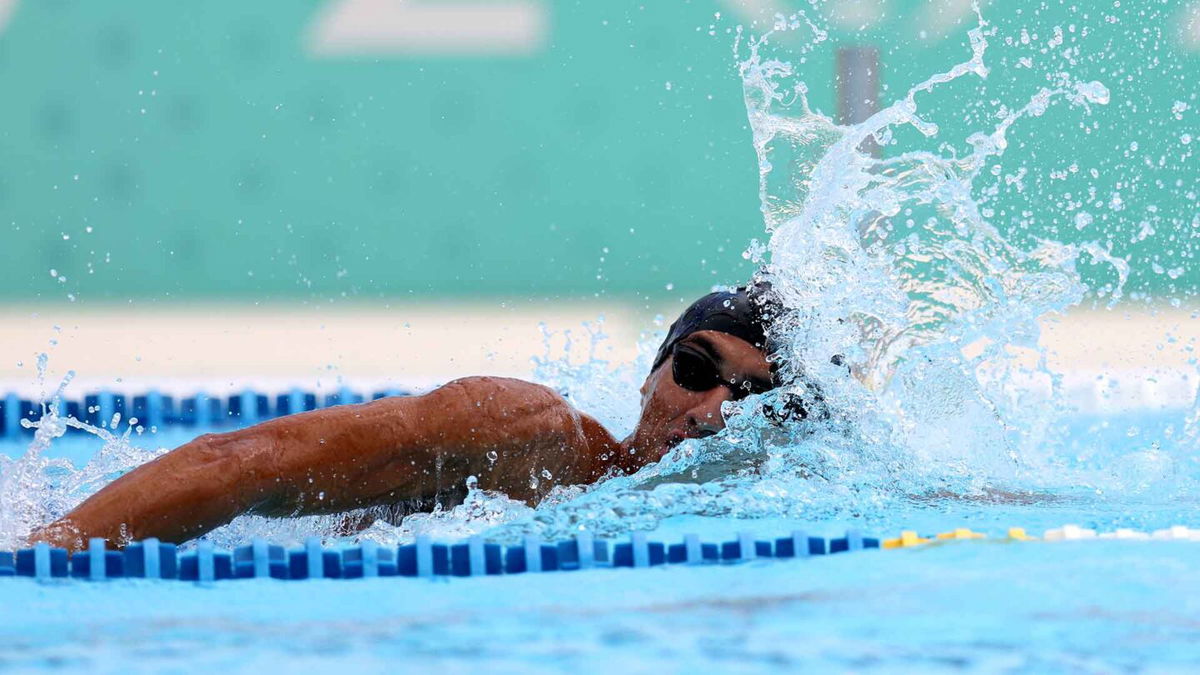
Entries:
{"type": "MultiPolygon", "coordinates": [[[[1076,418],[1093,448],[1153,443],[1178,412],[1076,418]],[[1138,429],[1138,437],[1129,429],[1138,429]]],[[[186,437],[145,435],[155,447],[186,437]]],[[[1158,438],[1162,440],[1162,438],[1158,438]]],[[[98,441],[55,446],[83,459],[98,441]]],[[[6,454],[23,444],[5,443],[6,454]]],[[[1187,470],[1187,468],[1184,468],[1187,470]]],[[[1190,471],[1195,471],[1194,464],[1190,471]]],[[[864,521],[677,515],[652,539],[1073,522],[1200,526],[1175,491],[1033,503],[912,500],[864,521]]],[[[1200,542],[955,542],[805,561],[424,580],[0,579],[0,669],[296,667],[448,671],[1182,670],[1200,667],[1200,542]]]]}

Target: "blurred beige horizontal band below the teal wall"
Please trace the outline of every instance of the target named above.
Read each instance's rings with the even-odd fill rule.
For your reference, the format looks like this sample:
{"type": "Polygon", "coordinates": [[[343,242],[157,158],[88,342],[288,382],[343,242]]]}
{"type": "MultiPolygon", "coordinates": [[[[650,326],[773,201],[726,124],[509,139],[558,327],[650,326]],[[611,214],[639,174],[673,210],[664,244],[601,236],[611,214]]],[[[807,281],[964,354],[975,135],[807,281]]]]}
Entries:
{"type": "MultiPolygon", "coordinates": [[[[334,390],[343,382],[420,388],[464,375],[528,377],[533,357],[563,354],[564,330],[572,331],[572,359],[586,359],[583,323],[601,315],[608,339],[599,356],[614,364],[631,362],[638,336],[655,329],[655,311],[673,317],[679,306],[0,306],[0,390],[44,390],[36,377],[42,352],[49,356],[48,387],[74,370],[74,392],[160,387],[181,393],[202,386],[214,393],[247,386],[334,390]],[[542,324],[558,333],[548,351],[542,324]]],[[[1078,311],[1046,321],[1043,329],[1050,365],[1076,380],[1160,372],[1176,381],[1196,374],[1188,350],[1200,339],[1200,321],[1188,311],[1078,311]]],[[[1026,357],[1032,365],[1033,354],[1026,357]]]]}

